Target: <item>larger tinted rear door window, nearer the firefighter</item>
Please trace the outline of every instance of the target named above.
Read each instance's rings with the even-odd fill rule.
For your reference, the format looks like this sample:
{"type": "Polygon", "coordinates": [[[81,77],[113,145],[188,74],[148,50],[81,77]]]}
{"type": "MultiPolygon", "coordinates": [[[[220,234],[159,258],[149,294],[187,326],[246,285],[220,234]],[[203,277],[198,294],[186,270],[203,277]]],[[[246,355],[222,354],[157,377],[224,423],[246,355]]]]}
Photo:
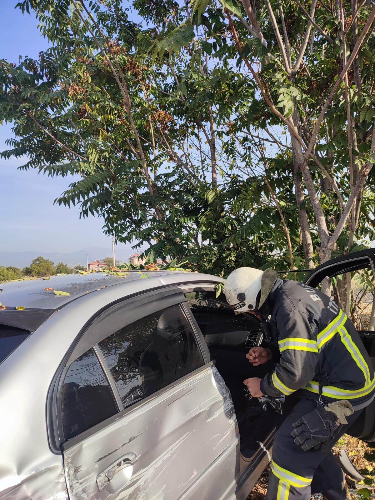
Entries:
{"type": "Polygon", "coordinates": [[[204,364],[179,305],[145,316],[99,342],[124,406],[204,364]]]}

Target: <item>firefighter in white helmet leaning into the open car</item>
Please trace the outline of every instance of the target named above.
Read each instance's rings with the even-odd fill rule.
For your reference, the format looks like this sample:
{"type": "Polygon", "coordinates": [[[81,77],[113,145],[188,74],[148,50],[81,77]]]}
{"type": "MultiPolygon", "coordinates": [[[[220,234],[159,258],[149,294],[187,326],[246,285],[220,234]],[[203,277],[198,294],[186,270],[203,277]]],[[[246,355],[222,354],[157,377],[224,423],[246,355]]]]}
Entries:
{"type": "Polygon", "coordinates": [[[324,293],[281,280],[272,269],[241,267],[231,272],[224,292],[234,313],[256,313],[267,347],[253,347],[253,366],[270,359],[273,371],[244,384],[253,397],[298,397],[277,429],[272,448],[267,500],[349,498],[332,446],[375,397],[375,379],[352,322],[324,293]]]}

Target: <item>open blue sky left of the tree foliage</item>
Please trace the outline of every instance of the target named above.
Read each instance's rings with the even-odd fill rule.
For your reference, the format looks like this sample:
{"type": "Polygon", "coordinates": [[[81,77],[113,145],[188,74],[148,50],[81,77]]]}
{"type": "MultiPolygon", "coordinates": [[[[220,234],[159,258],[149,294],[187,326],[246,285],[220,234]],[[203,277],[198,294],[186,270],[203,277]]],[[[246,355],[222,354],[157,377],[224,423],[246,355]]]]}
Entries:
{"type": "MultiPolygon", "coordinates": [[[[33,15],[14,9],[16,0],[1,2],[0,57],[36,57],[47,47],[33,15]]],[[[11,125],[0,125],[0,150],[11,137],[11,125]]],[[[19,171],[22,161],[0,159],[0,251],[74,251],[87,246],[111,247],[100,219],[79,220],[78,208],[53,205],[69,178],[50,178],[35,171],[19,171]]],[[[123,247],[123,246],[122,246],[123,247]]],[[[129,246],[130,251],[130,246],[129,246]]],[[[1,264],[0,264],[1,265],[1,264]]]]}

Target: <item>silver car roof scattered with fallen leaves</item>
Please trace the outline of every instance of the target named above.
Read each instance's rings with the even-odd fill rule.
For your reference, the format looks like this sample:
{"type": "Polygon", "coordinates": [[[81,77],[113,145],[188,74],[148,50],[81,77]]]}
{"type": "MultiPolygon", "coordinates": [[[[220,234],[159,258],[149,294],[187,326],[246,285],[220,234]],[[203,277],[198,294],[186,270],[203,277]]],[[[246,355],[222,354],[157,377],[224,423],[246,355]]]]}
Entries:
{"type": "MultiPolygon", "coordinates": [[[[131,288],[137,281],[136,291],[145,291],[157,288],[165,284],[177,282],[191,282],[209,280],[222,281],[222,278],[210,274],[183,272],[183,271],[128,271],[124,275],[114,275],[102,272],[90,272],[88,274],[65,274],[50,276],[48,278],[36,278],[31,280],[17,280],[8,283],[0,283],[0,302],[6,308],[17,306],[26,309],[48,309],[55,311],[72,300],[93,292],[103,287],[125,285],[129,290],[121,288],[122,296],[131,294],[131,288]],[[146,274],[147,279],[144,279],[146,274]],[[173,279],[174,277],[175,279],[173,279]],[[168,279],[165,279],[168,278],[168,279]],[[172,278],[172,279],[171,279],[172,278]],[[141,289],[139,288],[141,279],[141,289]],[[45,288],[53,288],[46,290],[45,288]],[[68,292],[69,295],[56,295],[54,290],[68,292]]],[[[0,317],[1,317],[0,311],[0,317]]],[[[0,320],[1,322],[1,320],[0,320]]]]}

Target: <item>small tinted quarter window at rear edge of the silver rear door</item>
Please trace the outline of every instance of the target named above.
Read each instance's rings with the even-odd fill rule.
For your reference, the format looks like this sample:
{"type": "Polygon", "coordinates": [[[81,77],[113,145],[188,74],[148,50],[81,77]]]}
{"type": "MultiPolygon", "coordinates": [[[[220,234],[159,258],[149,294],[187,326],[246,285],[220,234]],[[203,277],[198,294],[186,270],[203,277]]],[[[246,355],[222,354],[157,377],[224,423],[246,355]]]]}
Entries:
{"type": "Polygon", "coordinates": [[[92,349],[71,363],[62,388],[65,440],[116,413],[117,406],[92,349]]]}

